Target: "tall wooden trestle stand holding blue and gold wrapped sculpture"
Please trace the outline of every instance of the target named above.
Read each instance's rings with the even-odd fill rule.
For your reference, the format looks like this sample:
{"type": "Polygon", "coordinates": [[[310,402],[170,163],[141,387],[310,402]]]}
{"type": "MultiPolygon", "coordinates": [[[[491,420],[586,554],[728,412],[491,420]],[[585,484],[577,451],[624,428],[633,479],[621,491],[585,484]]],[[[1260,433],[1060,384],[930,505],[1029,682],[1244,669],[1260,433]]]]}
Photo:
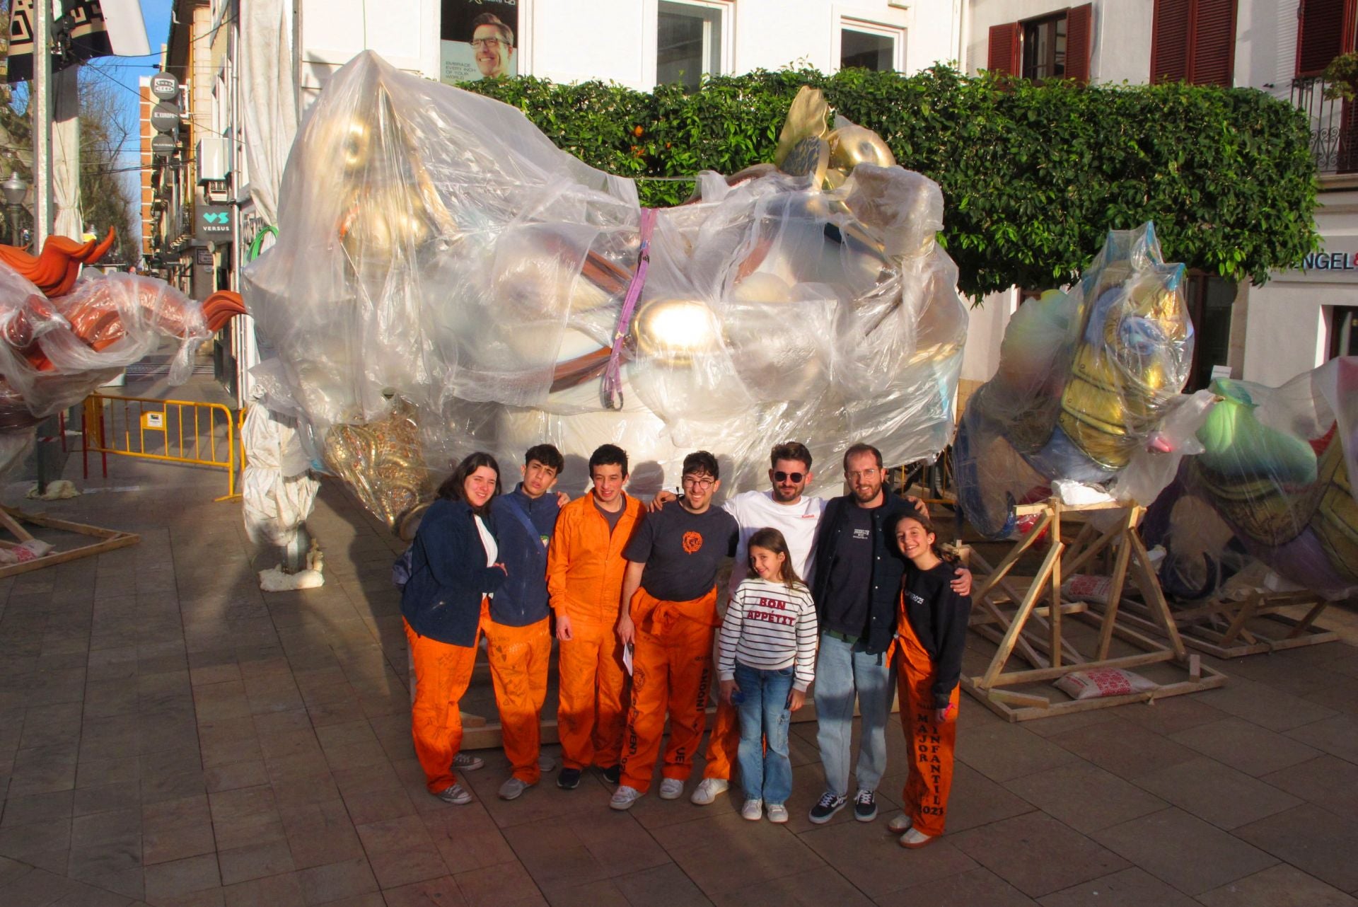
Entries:
{"type": "Polygon", "coordinates": [[[1027,721],[1196,692],[1225,683],[1225,675],[1203,665],[1200,656],[1188,654],[1184,649],[1169,603],[1165,601],[1146,547],[1137,532],[1143,508],[1112,502],[1066,505],[1051,498],[1019,505],[1014,511],[1020,517],[1036,517],[1036,524],[1023,539],[1014,542],[998,565],[991,568],[978,553],[971,551],[971,566],[978,574],[971,627],[998,648],[983,673],[972,676],[963,669],[961,687],[967,692],[1009,721],[1027,721]],[[1100,532],[1085,521],[1086,515],[1096,511],[1119,511],[1112,528],[1100,532]],[[1071,523],[1082,525],[1076,538],[1067,542],[1066,534],[1071,523]],[[1050,549],[1038,573],[1031,581],[1012,576],[1020,558],[1044,532],[1050,536],[1050,549]],[[1108,604],[1062,600],[1062,577],[1069,577],[1081,568],[1088,569],[1109,547],[1112,569],[1108,574],[1108,604]],[[1145,622],[1162,638],[1133,629],[1119,614],[1128,580],[1141,591],[1146,603],[1149,616],[1145,622]],[[1071,626],[1073,622],[1077,623],[1071,626]],[[1084,650],[1076,645],[1071,638],[1074,634],[1069,631],[1076,626],[1092,629],[1084,634],[1084,650]],[[1031,667],[1009,669],[1008,664],[1014,654],[1031,667]],[[1050,682],[1074,671],[1135,669],[1154,664],[1169,665],[1181,679],[1160,683],[1148,692],[1081,701],[1069,699],[1050,686],[1050,682]],[[1033,691],[1029,684],[1043,687],[1033,691]],[[1029,688],[1014,690],[1025,686],[1029,688]]]}

